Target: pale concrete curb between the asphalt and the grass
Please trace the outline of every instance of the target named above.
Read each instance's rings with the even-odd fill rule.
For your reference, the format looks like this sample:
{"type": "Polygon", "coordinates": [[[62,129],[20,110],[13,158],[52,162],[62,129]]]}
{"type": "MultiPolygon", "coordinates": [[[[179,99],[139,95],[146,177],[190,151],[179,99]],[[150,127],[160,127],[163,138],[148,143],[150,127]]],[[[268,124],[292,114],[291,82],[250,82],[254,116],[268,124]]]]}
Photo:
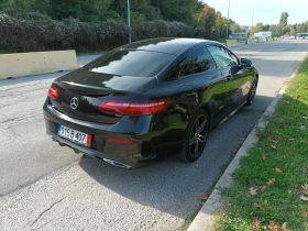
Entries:
{"type": "MultiPolygon", "coordinates": [[[[306,55],[305,55],[306,56],[306,55]]],[[[302,62],[305,56],[300,57],[300,61],[302,62]]],[[[300,62],[300,63],[301,63],[300,62]]],[[[298,68],[295,69],[295,73],[290,76],[290,79],[295,77],[298,68]]],[[[253,128],[253,130],[250,132],[248,138],[245,139],[244,143],[238,151],[234,158],[231,161],[220,179],[215,186],[213,191],[187,229],[187,231],[210,231],[212,230],[212,226],[215,224],[216,219],[216,212],[218,209],[222,206],[222,198],[221,198],[221,189],[226,187],[230,187],[232,184],[232,173],[239,167],[241,157],[248,155],[248,151],[255,145],[255,143],[258,141],[258,138],[256,135],[256,131],[260,129],[264,129],[267,125],[266,118],[274,113],[278,100],[283,97],[285,94],[285,90],[288,87],[288,80],[284,84],[283,88],[277,94],[276,98],[271,102],[271,105],[267,107],[263,116],[257,121],[256,125],[253,128]]]]}

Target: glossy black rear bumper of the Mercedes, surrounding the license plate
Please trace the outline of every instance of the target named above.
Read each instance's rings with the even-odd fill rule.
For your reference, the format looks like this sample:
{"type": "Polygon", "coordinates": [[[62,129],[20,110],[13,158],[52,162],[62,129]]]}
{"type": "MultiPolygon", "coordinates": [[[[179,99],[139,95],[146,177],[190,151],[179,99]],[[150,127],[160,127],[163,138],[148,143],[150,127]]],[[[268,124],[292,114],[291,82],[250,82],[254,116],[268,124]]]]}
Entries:
{"type": "MultiPolygon", "coordinates": [[[[136,132],[138,128],[133,128],[132,125],[123,128],[120,123],[99,124],[76,120],[61,113],[53,107],[48,106],[47,102],[43,107],[43,114],[45,118],[46,133],[54,141],[58,142],[61,145],[72,147],[73,150],[85,153],[91,157],[97,157],[109,163],[114,162],[117,164],[123,164],[122,167],[136,168],[148,165],[150,163],[157,161],[157,157],[160,157],[161,154],[164,156],[165,153],[177,151],[182,144],[182,140],[179,142],[168,142],[167,139],[164,139],[168,135],[164,133],[160,133],[157,136],[155,132],[145,132],[144,128],[150,128],[146,125],[146,119],[151,120],[152,118],[143,118],[144,125],[142,127],[142,132],[136,132]],[[76,144],[57,135],[58,124],[91,134],[91,146],[87,147],[76,144]],[[123,131],[123,129],[127,129],[127,132],[123,131]],[[119,130],[121,130],[121,132],[119,132],[119,130]],[[133,143],[114,143],[108,141],[108,138],[132,141],[133,143]],[[162,142],[163,140],[164,142],[162,142]]],[[[148,122],[151,123],[151,121],[148,122]]],[[[141,124],[136,125],[139,128],[141,127],[141,124]]]]}

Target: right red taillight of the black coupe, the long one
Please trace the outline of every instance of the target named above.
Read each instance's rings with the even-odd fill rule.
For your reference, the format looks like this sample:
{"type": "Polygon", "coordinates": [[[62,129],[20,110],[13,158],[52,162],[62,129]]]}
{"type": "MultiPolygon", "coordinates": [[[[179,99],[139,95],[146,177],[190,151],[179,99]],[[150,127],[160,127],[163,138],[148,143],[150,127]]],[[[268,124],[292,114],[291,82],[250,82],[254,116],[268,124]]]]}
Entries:
{"type": "Polygon", "coordinates": [[[112,114],[144,116],[158,113],[165,110],[169,106],[169,99],[144,102],[107,99],[100,105],[99,110],[112,114]]]}

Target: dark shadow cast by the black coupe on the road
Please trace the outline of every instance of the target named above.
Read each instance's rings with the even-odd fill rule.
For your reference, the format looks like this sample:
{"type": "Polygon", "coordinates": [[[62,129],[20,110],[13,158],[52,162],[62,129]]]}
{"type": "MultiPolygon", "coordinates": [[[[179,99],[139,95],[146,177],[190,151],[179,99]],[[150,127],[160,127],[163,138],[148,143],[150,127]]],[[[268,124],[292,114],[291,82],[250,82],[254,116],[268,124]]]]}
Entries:
{"type": "MultiPolygon", "coordinates": [[[[273,98],[257,96],[255,102],[264,100],[267,103],[273,98]]],[[[210,133],[202,156],[195,163],[182,163],[169,156],[160,164],[124,169],[82,157],[79,165],[97,183],[125,198],[188,218],[200,206],[198,195],[210,193],[233,158],[232,151],[241,146],[261,116],[262,111],[251,107],[239,110],[210,133]]]]}

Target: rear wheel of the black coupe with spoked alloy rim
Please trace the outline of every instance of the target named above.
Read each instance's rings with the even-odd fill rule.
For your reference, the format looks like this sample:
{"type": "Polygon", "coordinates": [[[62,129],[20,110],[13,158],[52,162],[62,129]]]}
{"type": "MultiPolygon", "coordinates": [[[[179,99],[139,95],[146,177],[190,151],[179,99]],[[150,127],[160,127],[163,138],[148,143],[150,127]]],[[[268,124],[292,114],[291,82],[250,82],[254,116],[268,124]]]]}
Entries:
{"type": "Polygon", "coordinates": [[[178,155],[178,158],[183,162],[197,161],[205,150],[208,133],[209,117],[206,111],[200,110],[191,118],[189,122],[183,148],[178,155]],[[198,131],[197,128],[199,128],[198,131]]]}

